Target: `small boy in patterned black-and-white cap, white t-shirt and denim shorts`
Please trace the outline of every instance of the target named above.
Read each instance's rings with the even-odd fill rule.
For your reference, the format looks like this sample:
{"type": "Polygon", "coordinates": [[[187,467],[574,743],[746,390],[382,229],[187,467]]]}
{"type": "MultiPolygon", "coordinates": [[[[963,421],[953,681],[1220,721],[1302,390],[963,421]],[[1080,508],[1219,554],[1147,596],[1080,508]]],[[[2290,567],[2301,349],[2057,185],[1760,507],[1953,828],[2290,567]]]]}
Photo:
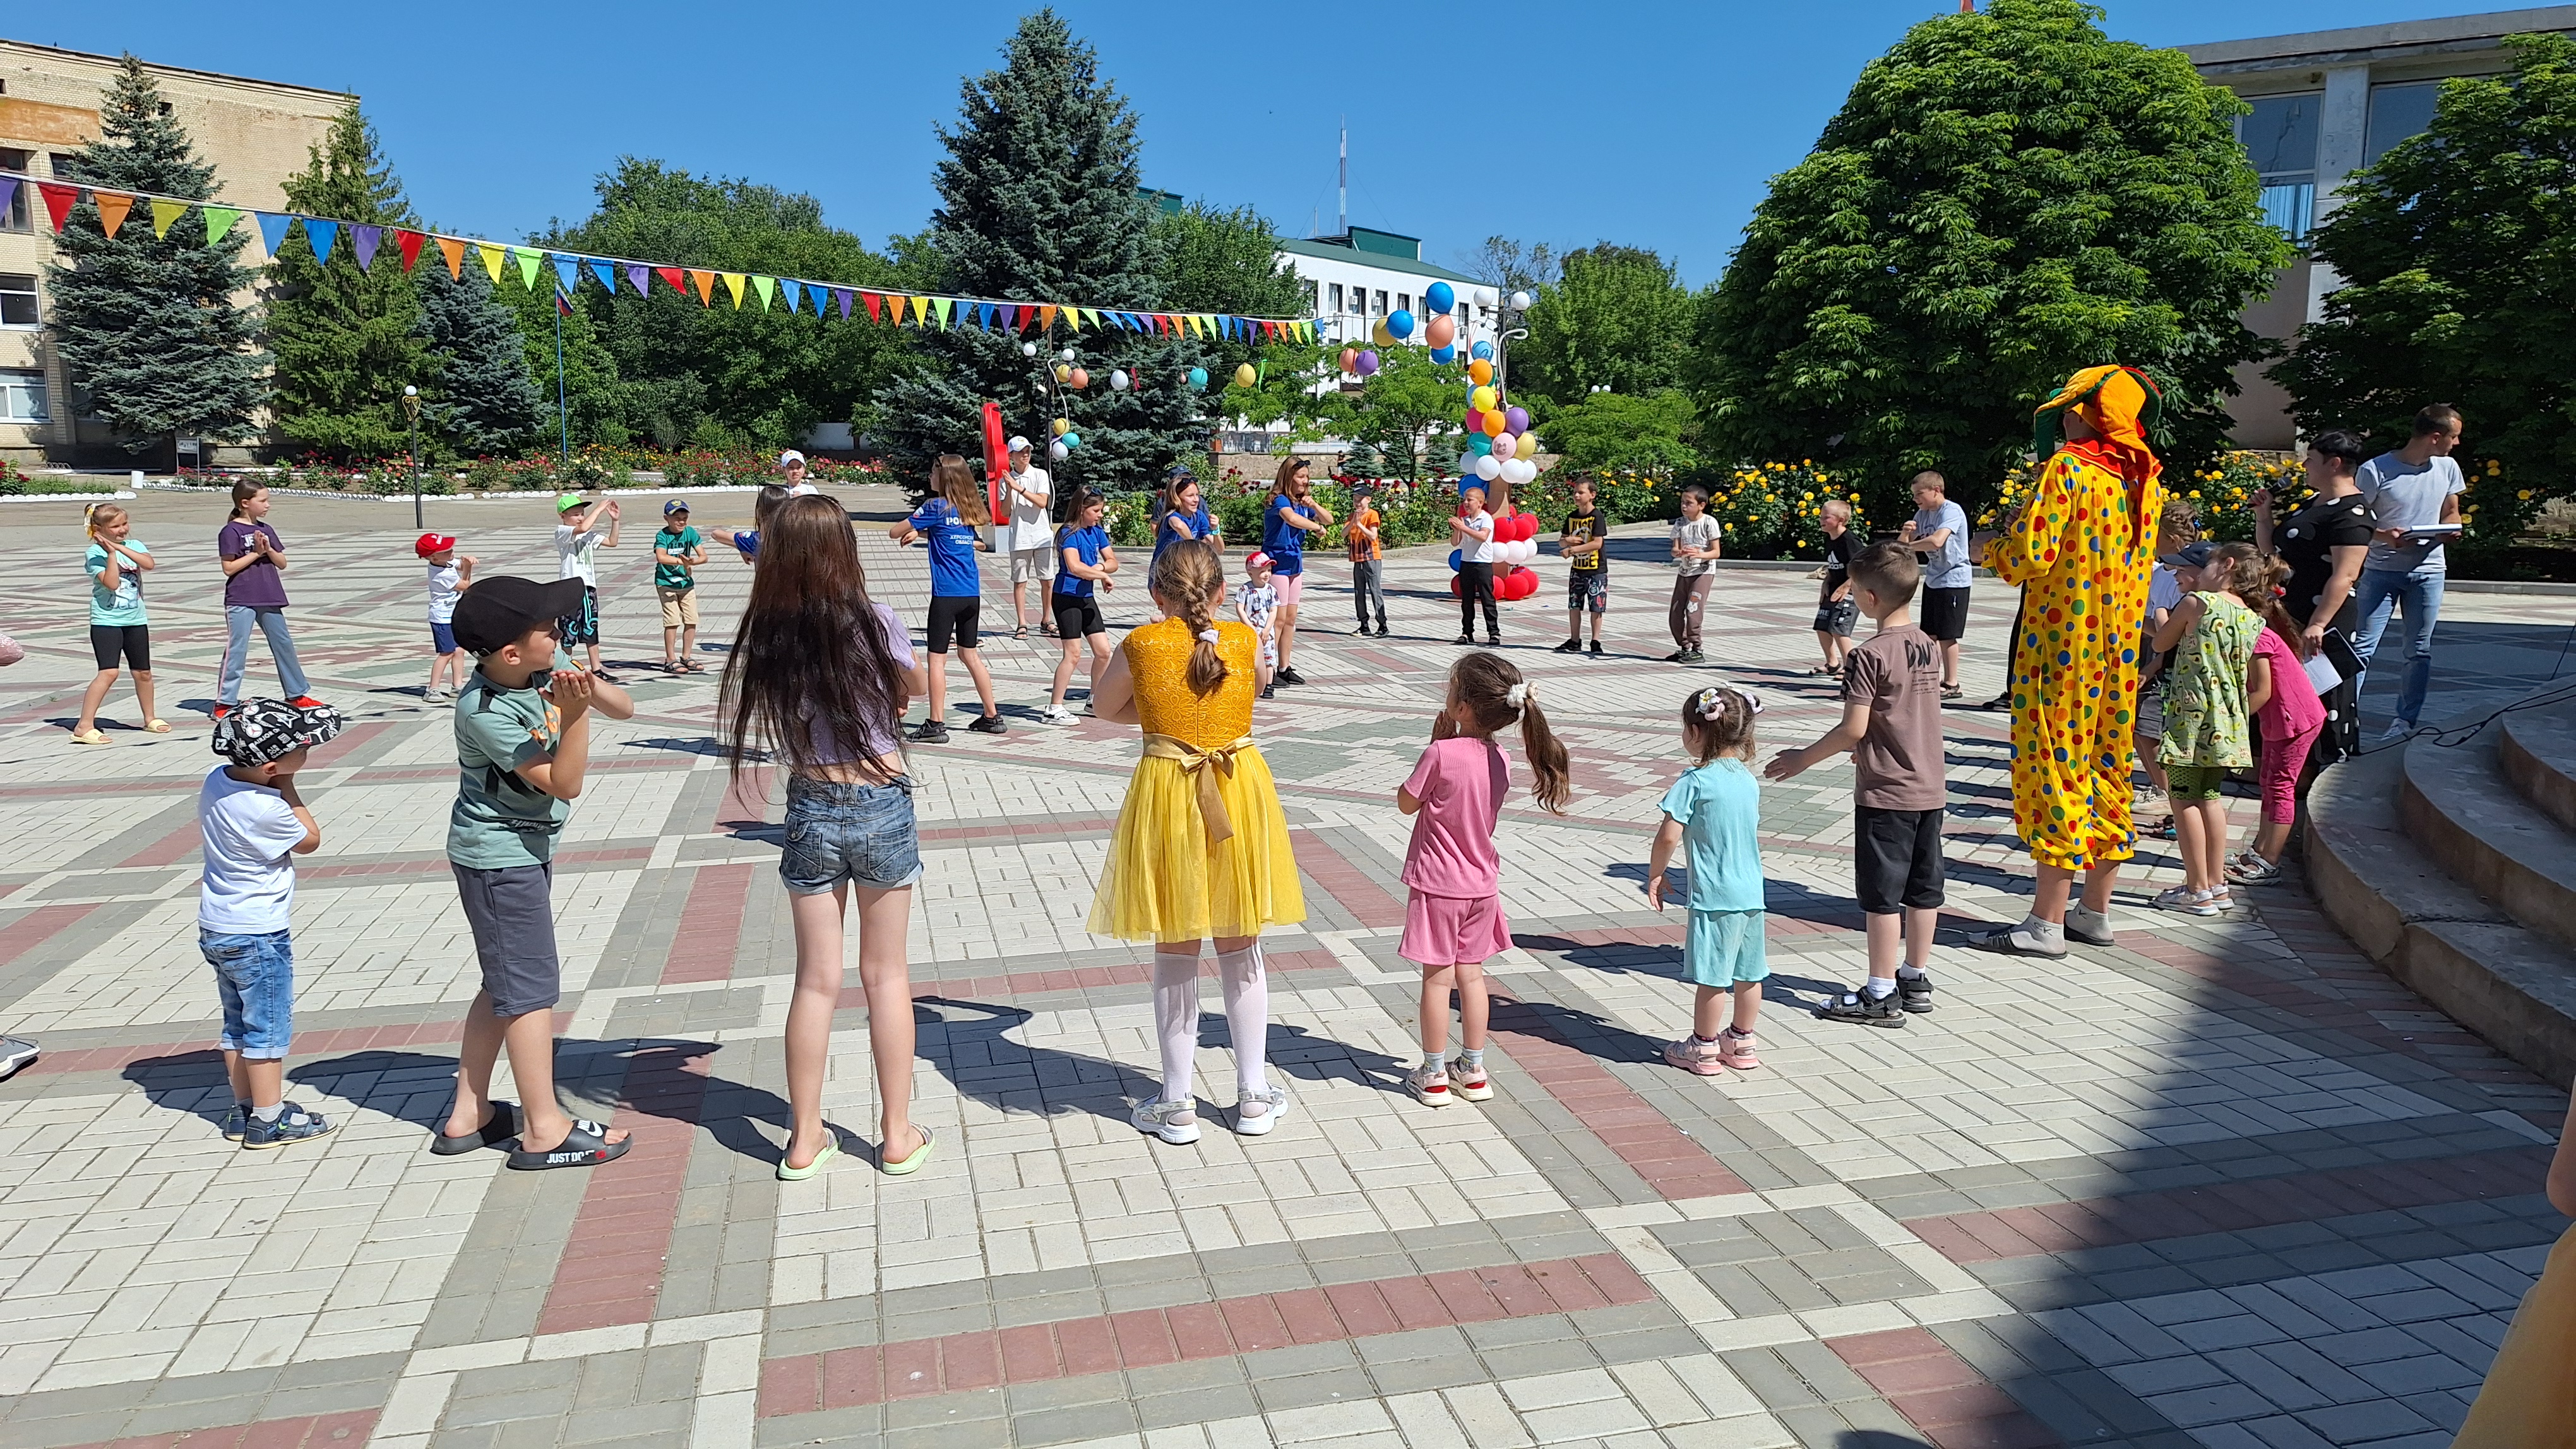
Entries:
{"type": "Polygon", "coordinates": [[[330,705],[247,700],[214,721],[214,752],[229,764],[209,770],[196,793],[206,847],[196,945],[224,999],[219,1045],[232,1078],[224,1138],[245,1148],[309,1143],[332,1130],[319,1112],[286,1102],[286,1042],[296,1014],[294,857],[322,849],[322,826],[296,795],[296,770],[340,728],[330,705]]]}

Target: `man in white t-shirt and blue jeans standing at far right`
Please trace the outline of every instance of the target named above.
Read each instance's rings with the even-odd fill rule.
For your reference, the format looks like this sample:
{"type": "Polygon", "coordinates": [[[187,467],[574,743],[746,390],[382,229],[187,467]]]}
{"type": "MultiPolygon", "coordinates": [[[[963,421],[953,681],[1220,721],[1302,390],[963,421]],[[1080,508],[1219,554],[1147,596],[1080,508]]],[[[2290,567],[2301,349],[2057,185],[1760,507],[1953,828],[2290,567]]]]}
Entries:
{"type": "MultiPolygon", "coordinates": [[[[2432,690],[2432,628],[2442,618],[2442,582],[2447,564],[2442,538],[2419,530],[2458,525],[2460,494],[2468,479],[2450,456],[2460,445],[2460,409],[2432,404],[2416,414],[2414,438],[2396,453],[2380,453],[2362,463],[2352,479],[2370,504],[2370,556],[2362,558],[2362,577],[2354,592],[2360,625],[2352,633],[2352,651],[2362,656],[2367,679],[2370,656],[2388,633],[2388,615],[2406,615],[2406,672],[2398,677],[2398,708],[2388,718],[2385,739],[2414,734],[2424,713],[2424,695],[2432,690]]],[[[2360,697],[2362,679],[2354,679],[2360,697]]]]}

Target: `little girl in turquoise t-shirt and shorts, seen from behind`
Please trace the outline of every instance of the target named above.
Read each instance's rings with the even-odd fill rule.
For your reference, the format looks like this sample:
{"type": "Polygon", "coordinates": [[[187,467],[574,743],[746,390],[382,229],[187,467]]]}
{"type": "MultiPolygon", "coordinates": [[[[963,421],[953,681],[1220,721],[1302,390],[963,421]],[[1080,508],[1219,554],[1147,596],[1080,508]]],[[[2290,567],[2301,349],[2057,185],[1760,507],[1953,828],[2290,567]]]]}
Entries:
{"type": "Polygon", "coordinates": [[[1690,1006],[1690,1035],[1664,1048],[1664,1060],[1716,1076],[1749,1071],[1754,1017],[1762,1014],[1762,788],[1744,764],[1754,757],[1754,715],[1762,703],[1749,690],[1710,685],[1682,700],[1682,746],[1698,764],[1664,790],[1664,826],[1646,860],[1646,898],[1664,909],[1664,865],[1674,847],[1690,849],[1690,934],[1682,937],[1682,975],[1700,993],[1690,1006]],[[1734,1022],[1726,1001],[1734,996],[1734,1022]]]}

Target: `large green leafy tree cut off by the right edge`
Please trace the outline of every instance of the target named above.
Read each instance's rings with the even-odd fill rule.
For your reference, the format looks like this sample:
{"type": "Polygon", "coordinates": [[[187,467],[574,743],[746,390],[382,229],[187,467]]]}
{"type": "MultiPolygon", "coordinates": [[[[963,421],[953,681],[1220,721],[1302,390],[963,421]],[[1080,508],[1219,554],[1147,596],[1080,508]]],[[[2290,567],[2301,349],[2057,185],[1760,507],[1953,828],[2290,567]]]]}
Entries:
{"type": "Polygon", "coordinates": [[[2419,407],[2460,407],[2470,548],[2509,546],[2576,489],[2576,41],[2506,46],[2509,75],[2447,82],[2429,131],[2344,178],[2316,229],[2344,286],[2272,368],[2311,435],[2393,448],[2419,407]]]}

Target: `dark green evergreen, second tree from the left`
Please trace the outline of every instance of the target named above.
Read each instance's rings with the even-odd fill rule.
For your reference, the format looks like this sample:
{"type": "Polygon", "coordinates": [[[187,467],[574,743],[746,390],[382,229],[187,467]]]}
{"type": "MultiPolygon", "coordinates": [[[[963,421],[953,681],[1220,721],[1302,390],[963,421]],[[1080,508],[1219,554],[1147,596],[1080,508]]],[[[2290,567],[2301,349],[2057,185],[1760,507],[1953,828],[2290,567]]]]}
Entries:
{"type": "MultiPolygon", "coordinates": [[[[420,226],[355,100],[309,149],[304,170],[286,178],[286,206],[386,229],[420,226]]],[[[410,438],[402,389],[435,381],[435,365],[420,329],[420,293],[394,237],[384,237],[374,268],[358,265],[348,226],[327,260],[314,260],[309,239],[289,239],[270,273],[278,432],[332,458],[399,456],[410,438]]]]}

